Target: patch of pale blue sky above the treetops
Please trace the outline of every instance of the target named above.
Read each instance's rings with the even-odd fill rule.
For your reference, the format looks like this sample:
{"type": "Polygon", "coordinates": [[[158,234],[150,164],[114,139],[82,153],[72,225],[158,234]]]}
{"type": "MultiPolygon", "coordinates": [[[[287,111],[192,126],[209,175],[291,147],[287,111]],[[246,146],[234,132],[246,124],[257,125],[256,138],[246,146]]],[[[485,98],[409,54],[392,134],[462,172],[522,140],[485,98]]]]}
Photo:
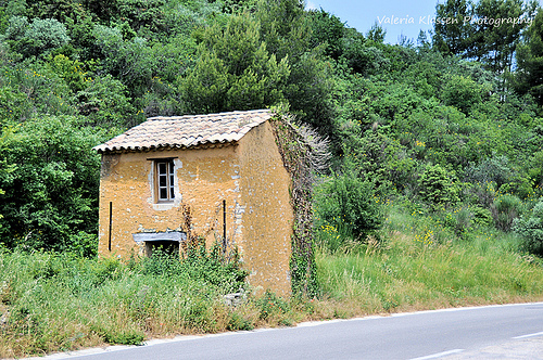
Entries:
{"type": "MultiPolygon", "coordinates": [[[[443,3],[443,0],[441,1],[443,3]]],[[[420,30],[433,28],[437,0],[306,0],[306,9],[320,9],[338,16],[346,26],[366,35],[377,23],[387,30],[384,41],[397,43],[400,36],[406,36],[417,43],[420,30]]],[[[430,38],[430,36],[428,36],[430,38]]]]}

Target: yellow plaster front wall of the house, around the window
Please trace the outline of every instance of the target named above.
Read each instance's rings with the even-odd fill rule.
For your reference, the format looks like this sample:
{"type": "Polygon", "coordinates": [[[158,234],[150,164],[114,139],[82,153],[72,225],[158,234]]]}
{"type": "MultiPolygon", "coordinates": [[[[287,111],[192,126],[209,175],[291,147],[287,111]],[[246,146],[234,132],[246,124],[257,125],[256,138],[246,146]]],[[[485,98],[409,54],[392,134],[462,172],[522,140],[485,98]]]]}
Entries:
{"type": "MultiPolygon", "coordinates": [[[[239,202],[239,157],[236,146],[189,151],[162,151],[102,156],[100,181],[100,256],[143,255],[132,233],[185,229],[182,205],[192,216],[192,233],[207,245],[223,236],[223,200],[227,202],[227,237],[236,242],[236,204],[239,202]],[[155,204],[152,188],[153,162],[174,159],[176,198],[155,204]],[[113,203],[112,254],[109,253],[109,203],[113,203]]],[[[239,222],[239,220],[238,220],[239,222]]]]}

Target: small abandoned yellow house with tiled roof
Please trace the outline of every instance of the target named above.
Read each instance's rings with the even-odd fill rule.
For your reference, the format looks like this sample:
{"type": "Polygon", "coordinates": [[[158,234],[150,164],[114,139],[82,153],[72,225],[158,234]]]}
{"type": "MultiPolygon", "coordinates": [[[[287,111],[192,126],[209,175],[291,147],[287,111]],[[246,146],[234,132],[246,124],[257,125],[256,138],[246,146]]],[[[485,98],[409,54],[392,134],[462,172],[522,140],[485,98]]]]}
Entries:
{"type": "Polygon", "coordinates": [[[99,255],[237,246],[249,282],[290,293],[290,176],[267,110],[153,117],[104,144],[99,255]],[[190,217],[190,219],[188,219],[190,217]],[[190,228],[190,229],[189,229],[190,228]]]}

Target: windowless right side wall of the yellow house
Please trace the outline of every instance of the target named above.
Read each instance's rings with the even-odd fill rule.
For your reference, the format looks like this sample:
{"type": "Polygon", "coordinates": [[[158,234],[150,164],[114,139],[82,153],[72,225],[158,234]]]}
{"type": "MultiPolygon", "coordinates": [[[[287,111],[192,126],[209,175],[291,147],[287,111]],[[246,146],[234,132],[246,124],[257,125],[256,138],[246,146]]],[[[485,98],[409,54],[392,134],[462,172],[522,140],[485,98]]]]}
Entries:
{"type": "Polygon", "coordinates": [[[269,123],[240,141],[243,261],[250,283],[288,295],[293,210],[290,176],[282,165],[269,123]]]}

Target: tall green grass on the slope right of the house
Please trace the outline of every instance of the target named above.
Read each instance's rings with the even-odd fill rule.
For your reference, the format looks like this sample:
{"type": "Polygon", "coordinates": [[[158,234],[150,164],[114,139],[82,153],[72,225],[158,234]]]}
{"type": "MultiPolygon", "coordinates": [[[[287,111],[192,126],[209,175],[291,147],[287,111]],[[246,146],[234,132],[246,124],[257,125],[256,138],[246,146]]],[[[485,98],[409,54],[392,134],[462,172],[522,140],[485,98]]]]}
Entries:
{"type": "Polygon", "coordinates": [[[519,254],[514,234],[457,234],[443,217],[397,207],[388,216],[384,243],[321,246],[316,256],[321,291],[344,304],[343,316],[543,299],[542,262],[519,254]]]}

